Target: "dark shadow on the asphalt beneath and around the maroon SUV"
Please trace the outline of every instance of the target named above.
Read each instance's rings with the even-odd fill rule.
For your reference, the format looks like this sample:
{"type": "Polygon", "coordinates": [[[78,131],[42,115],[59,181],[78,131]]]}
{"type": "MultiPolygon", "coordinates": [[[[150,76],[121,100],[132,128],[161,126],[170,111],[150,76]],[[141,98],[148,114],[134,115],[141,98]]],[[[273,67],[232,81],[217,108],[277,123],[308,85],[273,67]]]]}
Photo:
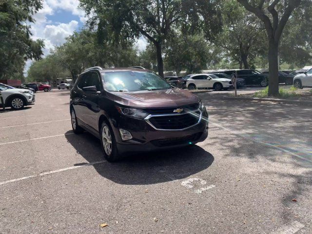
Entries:
{"type": "MultiPolygon", "coordinates": [[[[98,138],[86,132],[65,137],[88,162],[104,160],[98,138]]],[[[93,166],[98,174],[116,183],[139,185],[185,178],[207,169],[213,161],[214,156],[193,145],[170,151],[137,154],[117,163],[106,162],[93,166]]]]}

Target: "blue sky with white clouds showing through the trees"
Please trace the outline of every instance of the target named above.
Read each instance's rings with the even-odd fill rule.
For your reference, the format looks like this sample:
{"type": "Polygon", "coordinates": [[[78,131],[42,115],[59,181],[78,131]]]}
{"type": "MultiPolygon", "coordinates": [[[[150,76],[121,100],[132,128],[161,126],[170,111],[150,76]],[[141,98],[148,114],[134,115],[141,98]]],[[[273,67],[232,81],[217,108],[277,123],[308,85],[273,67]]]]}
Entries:
{"type": "MultiPolygon", "coordinates": [[[[50,53],[51,49],[65,42],[65,38],[79,31],[89,16],[79,8],[79,0],[43,0],[43,7],[34,16],[35,23],[31,24],[33,39],[43,39],[45,47],[44,56],[50,53]]],[[[136,46],[142,51],[146,48],[146,40],[140,38],[136,46]]],[[[32,61],[26,62],[25,72],[32,61]]]]}

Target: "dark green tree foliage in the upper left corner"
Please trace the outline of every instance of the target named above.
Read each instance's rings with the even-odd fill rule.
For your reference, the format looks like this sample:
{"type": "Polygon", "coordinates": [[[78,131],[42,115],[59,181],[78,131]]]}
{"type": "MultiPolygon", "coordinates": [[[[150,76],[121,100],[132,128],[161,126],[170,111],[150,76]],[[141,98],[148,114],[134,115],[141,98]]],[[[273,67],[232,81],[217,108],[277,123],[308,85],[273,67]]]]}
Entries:
{"type": "Polygon", "coordinates": [[[0,1],[0,79],[22,76],[25,60],[41,59],[43,40],[31,39],[27,25],[41,8],[41,0],[0,1]]]}

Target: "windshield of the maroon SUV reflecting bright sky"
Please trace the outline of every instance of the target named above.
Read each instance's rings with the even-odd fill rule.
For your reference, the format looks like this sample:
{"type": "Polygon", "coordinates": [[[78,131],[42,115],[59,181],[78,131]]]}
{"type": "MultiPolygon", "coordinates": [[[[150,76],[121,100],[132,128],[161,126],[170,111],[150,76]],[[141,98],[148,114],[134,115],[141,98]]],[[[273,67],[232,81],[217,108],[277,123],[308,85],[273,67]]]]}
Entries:
{"type": "Polygon", "coordinates": [[[145,71],[105,72],[103,80],[107,91],[136,92],[171,88],[163,78],[145,71]]]}

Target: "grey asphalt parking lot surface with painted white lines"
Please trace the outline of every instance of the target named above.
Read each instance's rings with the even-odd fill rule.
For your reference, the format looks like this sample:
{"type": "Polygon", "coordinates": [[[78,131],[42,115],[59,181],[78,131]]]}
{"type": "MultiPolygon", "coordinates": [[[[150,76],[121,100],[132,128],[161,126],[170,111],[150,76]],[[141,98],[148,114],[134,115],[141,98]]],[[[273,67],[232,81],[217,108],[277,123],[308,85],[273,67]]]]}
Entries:
{"type": "Polygon", "coordinates": [[[0,234],[311,234],[311,107],[213,93],[206,141],[117,163],[67,90],[0,112],[0,234]]]}

